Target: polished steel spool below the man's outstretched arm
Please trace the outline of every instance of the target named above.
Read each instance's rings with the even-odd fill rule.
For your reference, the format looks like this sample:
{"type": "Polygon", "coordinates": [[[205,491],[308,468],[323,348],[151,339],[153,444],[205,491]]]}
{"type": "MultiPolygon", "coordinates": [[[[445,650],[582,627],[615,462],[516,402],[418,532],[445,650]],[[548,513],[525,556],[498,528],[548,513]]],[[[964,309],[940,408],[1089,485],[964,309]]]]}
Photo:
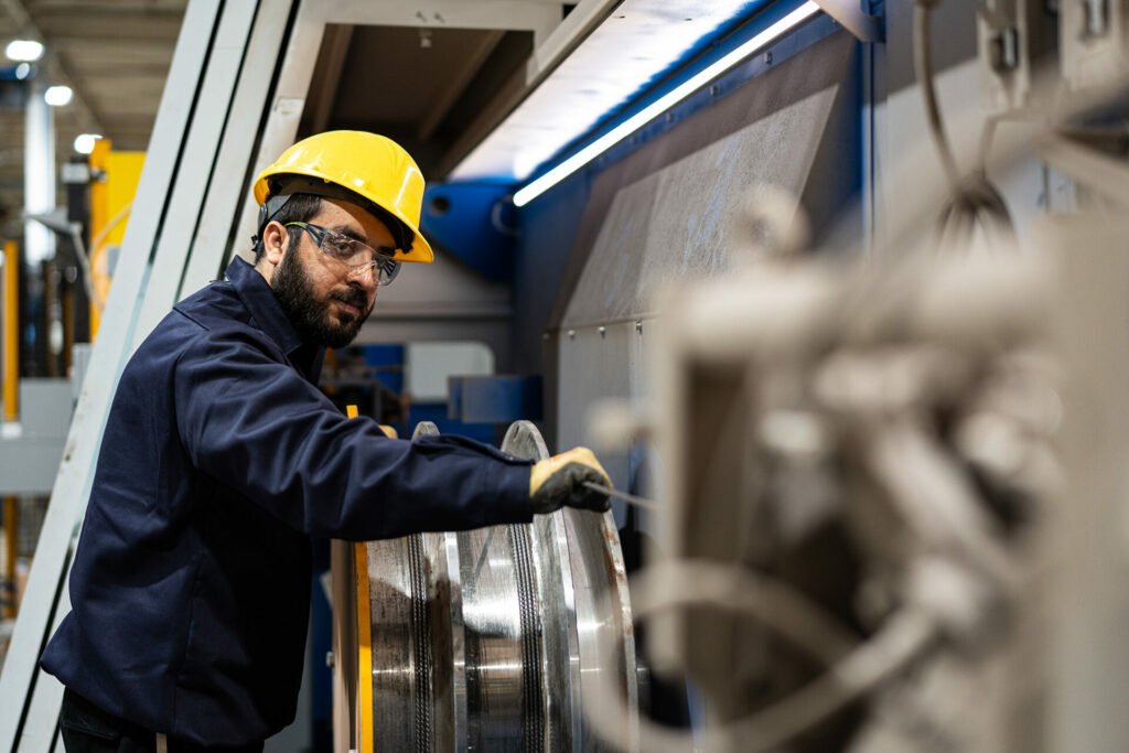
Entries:
{"type": "MultiPolygon", "coordinates": [[[[422,434],[437,431],[421,423],[422,434]]],[[[549,455],[528,421],[501,449],[549,455]]],[[[358,653],[358,678],[371,681],[357,695],[361,753],[607,750],[583,711],[581,683],[595,672],[622,689],[624,729],[634,730],[634,637],[611,514],[566,509],[528,525],[368,542],[356,566],[357,619],[367,607],[370,628],[359,631],[370,650],[358,653]],[[622,647],[612,666],[599,664],[605,640],[622,647]]]]}

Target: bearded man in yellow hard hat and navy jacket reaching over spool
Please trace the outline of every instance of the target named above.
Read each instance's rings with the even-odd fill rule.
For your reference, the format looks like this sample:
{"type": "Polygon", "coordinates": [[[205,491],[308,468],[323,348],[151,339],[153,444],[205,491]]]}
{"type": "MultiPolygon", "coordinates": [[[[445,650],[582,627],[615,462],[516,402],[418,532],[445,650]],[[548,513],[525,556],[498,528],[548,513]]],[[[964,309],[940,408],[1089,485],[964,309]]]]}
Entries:
{"type": "Polygon", "coordinates": [[[75,751],[260,751],[301,680],[310,536],[373,540],[604,510],[583,448],[532,466],[409,443],[316,388],[401,262],[429,262],[423,178],[370,133],[287,150],[254,186],[255,263],[177,304],[130,360],[41,664],[75,751]]]}

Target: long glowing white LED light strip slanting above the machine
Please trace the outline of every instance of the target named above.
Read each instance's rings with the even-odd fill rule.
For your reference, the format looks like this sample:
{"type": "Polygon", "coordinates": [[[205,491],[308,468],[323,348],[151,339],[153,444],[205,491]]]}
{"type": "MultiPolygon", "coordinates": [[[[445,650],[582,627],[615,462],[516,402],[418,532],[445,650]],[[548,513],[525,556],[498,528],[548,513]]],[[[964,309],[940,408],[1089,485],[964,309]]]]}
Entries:
{"type": "Polygon", "coordinates": [[[819,10],[820,7],[808,0],[796,10],[791,11],[733,52],[715,62],[712,65],[685,80],[647,107],[644,107],[638,113],[562,161],[560,165],[557,165],[541,177],[537,177],[524,185],[514,194],[514,205],[524,207],[530,203],[545,191],[553,187],[603,152],[607,151],[613,145],[630,135],[633,131],[642,128],[660,113],[679,104],[691,94],[703,87],[707,82],[726,72],[745,58],[756,52],[759,49],[774,42],[778,37],[791,30],[800,23],[815,15],[819,10]]]}

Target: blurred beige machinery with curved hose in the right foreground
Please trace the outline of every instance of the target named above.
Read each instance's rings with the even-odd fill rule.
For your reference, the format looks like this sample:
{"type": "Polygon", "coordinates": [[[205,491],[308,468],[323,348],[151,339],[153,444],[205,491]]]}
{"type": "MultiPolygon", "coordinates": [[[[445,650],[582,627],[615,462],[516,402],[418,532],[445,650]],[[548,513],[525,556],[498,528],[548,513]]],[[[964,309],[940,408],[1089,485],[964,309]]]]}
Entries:
{"type": "Polygon", "coordinates": [[[664,300],[666,514],[632,606],[654,674],[707,713],[642,719],[640,750],[1129,744],[1129,222],[1029,230],[1023,253],[761,262],[664,300]]]}

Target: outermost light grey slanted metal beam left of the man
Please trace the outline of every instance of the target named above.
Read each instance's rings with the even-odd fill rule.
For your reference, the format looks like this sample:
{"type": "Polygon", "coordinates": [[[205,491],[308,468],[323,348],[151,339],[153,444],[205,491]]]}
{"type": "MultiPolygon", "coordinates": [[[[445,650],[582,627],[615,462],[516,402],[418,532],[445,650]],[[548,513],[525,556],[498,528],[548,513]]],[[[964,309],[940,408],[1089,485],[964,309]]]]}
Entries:
{"type": "Polygon", "coordinates": [[[0,674],[0,698],[6,699],[0,706],[0,748],[50,751],[55,742],[62,685],[37,671],[36,663],[47,630],[54,629],[70,605],[64,585],[76,522],[89,494],[117,376],[131,352],[138,305],[149,279],[154,239],[170,209],[167,200],[191,128],[219,11],[219,3],[208,0],[194,0],[185,11],[138,186],[133,220],[122,246],[122,263],[106,301],[100,336],[82,384],[28,577],[27,597],[0,674]],[[15,702],[16,699],[23,700],[15,702]]]}

